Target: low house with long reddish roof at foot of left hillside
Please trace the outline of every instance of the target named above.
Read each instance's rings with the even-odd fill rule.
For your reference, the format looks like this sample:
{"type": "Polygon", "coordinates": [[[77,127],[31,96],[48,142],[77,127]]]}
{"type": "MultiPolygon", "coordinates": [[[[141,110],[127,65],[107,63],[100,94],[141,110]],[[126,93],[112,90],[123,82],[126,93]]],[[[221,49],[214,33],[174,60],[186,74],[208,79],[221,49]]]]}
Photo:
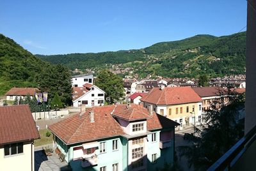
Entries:
{"type": "Polygon", "coordinates": [[[39,92],[37,88],[32,87],[12,87],[5,95],[6,100],[12,100],[14,101],[17,97],[18,100],[20,98],[24,99],[26,95],[30,95],[30,98],[33,98],[34,94],[39,92]]]}

